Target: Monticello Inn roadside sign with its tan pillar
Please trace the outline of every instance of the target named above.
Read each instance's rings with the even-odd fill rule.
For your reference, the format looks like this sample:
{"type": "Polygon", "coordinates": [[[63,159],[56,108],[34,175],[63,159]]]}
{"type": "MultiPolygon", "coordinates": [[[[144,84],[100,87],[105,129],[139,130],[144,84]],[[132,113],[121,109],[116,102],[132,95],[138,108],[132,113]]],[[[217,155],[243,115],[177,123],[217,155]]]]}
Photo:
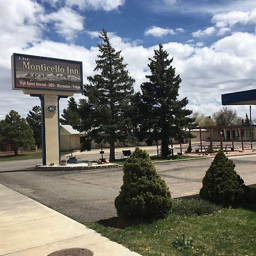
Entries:
{"type": "Polygon", "coordinates": [[[41,100],[43,164],[59,164],[59,100],[82,92],[82,62],[14,53],[11,68],[13,89],[41,100]]]}

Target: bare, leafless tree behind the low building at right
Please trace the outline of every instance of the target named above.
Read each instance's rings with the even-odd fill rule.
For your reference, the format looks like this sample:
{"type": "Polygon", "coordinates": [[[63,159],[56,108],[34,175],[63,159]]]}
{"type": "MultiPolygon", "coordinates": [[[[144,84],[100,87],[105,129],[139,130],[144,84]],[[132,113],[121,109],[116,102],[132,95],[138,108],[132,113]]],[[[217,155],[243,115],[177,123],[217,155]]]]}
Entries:
{"type": "Polygon", "coordinates": [[[236,110],[228,109],[224,106],[213,114],[216,125],[241,125],[242,118],[238,117],[236,110]]]}

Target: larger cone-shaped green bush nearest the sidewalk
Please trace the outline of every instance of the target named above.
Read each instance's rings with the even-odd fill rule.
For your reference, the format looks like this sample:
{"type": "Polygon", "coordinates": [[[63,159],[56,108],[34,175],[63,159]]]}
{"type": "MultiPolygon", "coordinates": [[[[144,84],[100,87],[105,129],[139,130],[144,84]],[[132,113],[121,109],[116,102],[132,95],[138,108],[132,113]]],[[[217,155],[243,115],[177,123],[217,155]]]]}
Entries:
{"type": "Polygon", "coordinates": [[[115,198],[120,217],[160,218],[170,211],[171,193],[147,152],[136,148],[123,166],[123,185],[115,198]]]}

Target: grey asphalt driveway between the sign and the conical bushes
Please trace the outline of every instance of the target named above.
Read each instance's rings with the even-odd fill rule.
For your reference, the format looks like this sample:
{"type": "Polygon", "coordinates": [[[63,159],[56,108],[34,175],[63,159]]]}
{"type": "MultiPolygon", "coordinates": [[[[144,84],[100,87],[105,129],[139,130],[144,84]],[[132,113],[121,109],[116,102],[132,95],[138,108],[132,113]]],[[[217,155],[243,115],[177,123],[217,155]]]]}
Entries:
{"type": "MultiPolygon", "coordinates": [[[[232,159],[245,183],[256,184],[256,155],[234,156],[232,159]]],[[[212,159],[196,159],[155,166],[166,180],[172,196],[179,197],[199,193],[210,162],[212,159]]],[[[16,164],[19,164],[19,169],[22,168],[23,160],[16,164]]],[[[2,169],[0,183],[77,221],[85,222],[115,216],[114,199],[122,185],[122,176],[122,168],[72,172],[2,169]]]]}

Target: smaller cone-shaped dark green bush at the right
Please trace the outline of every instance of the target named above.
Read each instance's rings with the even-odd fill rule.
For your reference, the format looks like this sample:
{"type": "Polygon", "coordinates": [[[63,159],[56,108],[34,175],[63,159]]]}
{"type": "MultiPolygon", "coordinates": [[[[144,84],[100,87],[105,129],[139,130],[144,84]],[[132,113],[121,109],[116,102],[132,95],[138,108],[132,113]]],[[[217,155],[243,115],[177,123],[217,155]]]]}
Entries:
{"type": "Polygon", "coordinates": [[[207,170],[200,196],[215,204],[230,205],[243,199],[245,184],[234,170],[236,165],[222,150],[218,151],[207,170]]]}

